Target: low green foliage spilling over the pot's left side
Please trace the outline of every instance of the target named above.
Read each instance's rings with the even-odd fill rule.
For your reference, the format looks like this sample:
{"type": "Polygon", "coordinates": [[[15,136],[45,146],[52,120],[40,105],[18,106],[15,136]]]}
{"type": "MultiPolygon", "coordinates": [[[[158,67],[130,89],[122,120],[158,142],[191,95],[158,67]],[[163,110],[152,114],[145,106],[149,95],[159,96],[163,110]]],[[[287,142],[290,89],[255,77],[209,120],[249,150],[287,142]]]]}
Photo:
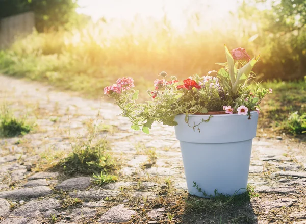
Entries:
{"type": "MultiPolygon", "coordinates": [[[[194,80],[197,83],[203,83],[204,77],[195,75],[194,80]]],[[[136,131],[141,129],[143,132],[149,133],[154,121],[175,126],[177,122],[174,117],[177,114],[207,113],[207,111],[221,110],[222,108],[223,102],[220,99],[219,85],[215,78],[211,77],[200,89],[195,87],[177,89],[178,82],[170,83],[165,79],[158,82],[159,84],[156,85],[160,85],[160,87],[153,92],[156,94],[155,98],[146,103],[138,104],[135,102],[138,91],[133,89],[110,94],[123,111],[121,115],[131,119],[132,129],[136,131]]],[[[148,90],[150,97],[152,97],[151,92],[148,90]]]]}

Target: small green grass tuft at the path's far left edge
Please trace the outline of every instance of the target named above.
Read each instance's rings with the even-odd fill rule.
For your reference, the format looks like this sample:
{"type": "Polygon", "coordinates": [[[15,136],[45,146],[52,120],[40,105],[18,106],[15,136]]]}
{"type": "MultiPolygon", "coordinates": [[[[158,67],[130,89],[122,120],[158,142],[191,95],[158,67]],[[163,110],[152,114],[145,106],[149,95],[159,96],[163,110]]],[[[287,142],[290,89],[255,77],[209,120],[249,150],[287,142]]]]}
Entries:
{"type": "Polygon", "coordinates": [[[0,114],[0,135],[14,137],[24,135],[32,130],[32,126],[25,118],[16,118],[5,106],[0,114]]]}

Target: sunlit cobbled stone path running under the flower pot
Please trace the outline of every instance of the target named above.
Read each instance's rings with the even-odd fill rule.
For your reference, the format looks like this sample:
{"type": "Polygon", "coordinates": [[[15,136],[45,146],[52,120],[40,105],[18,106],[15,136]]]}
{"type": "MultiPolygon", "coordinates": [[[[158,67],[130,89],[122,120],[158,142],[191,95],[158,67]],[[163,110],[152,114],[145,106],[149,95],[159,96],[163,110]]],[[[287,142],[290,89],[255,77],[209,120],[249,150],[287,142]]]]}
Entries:
{"type": "MultiPolygon", "coordinates": [[[[184,210],[171,213],[184,200],[176,199],[187,195],[180,145],[172,127],[155,125],[150,135],[135,132],[127,119],[116,116],[120,111],[113,104],[5,76],[0,76],[0,100],[16,116],[28,113],[37,124],[31,134],[0,140],[1,223],[221,222],[214,215],[198,214],[191,222],[184,210]],[[90,120],[114,127],[100,137],[109,140],[110,153],[120,161],[118,182],[99,187],[92,177],[68,178],[40,167],[39,161],[70,152],[71,136],[86,138],[90,120]],[[173,201],[164,202],[169,185],[173,201]]],[[[52,158],[56,162],[60,157],[52,158]]],[[[306,223],[305,167],[304,143],[279,137],[254,139],[249,183],[259,197],[247,205],[247,221],[233,217],[227,222],[306,223]]]]}

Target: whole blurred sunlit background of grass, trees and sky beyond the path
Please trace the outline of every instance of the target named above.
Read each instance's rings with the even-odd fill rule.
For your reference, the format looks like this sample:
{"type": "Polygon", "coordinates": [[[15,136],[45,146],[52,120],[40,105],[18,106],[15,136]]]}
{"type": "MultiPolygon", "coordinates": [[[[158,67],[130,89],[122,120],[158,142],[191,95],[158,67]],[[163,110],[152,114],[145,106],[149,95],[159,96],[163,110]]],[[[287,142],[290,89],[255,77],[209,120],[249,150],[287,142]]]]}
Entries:
{"type": "Polygon", "coordinates": [[[224,44],[243,47],[274,92],[262,132],[305,135],[305,31],[306,0],[0,0],[0,72],[100,98],[122,76],[146,90],[161,71],[205,75],[224,44]]]}

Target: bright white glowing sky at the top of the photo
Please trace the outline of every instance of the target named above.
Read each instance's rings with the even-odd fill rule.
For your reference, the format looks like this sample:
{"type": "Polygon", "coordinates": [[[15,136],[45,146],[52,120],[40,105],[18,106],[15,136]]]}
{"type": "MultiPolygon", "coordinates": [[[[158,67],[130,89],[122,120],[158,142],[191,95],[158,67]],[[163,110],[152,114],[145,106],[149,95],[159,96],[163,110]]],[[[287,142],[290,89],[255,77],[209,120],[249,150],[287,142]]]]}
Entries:
{"type": "Polygon", "coordinates": [[[207,25],[221,23],[238,9],[241,0],[80,0],[78,13],[92,17],[94,21],[100,18],[131,21],[135,17],[162,19],[165,16],[173,26],[186,26],[186,19],[197,16],[206,20],[207,25]]]}

